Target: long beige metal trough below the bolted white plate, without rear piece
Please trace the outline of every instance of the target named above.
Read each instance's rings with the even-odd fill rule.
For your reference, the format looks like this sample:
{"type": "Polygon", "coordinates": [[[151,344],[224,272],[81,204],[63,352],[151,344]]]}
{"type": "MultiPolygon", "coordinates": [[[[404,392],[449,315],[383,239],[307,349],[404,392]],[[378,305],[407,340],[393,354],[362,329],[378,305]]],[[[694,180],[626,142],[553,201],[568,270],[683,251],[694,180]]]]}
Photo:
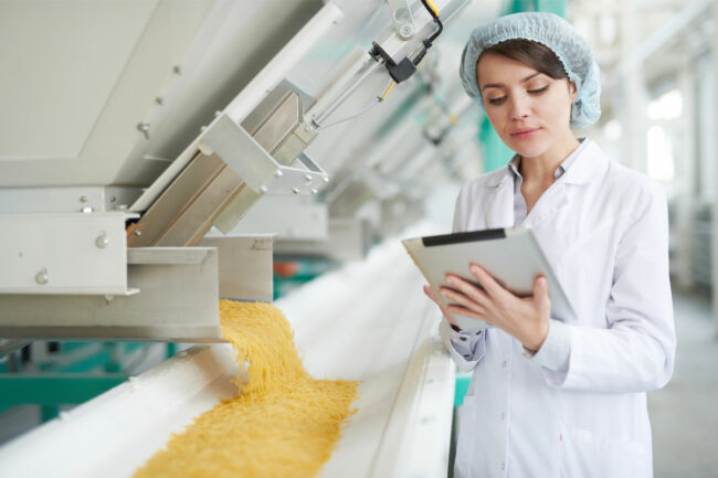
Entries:
{"type": "Polygon", "coordinates": [[[126,261],[135,295],[0,295],[0,336],[222,340],[215,248],[129,248],[126,261]]]}

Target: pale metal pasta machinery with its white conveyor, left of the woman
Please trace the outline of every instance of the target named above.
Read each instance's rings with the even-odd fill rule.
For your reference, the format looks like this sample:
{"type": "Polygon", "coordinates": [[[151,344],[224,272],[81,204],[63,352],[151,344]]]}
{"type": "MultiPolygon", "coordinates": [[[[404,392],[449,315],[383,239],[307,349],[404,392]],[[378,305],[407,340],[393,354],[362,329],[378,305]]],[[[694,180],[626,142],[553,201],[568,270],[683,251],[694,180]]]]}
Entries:
{"type": "MultiPolygon", "coordinates": [[[[1,2],[0,338],[220,342],[219,298],[330,257],[277,302],[310,373],[362,381],[324,476],[441,476],[454,369],[386,240],[481,170],[455,72],[503,2],[467,3],[1,2]]],[[[0,476],[131,475],[234,373],[228,344],[183,352],[0,448],[0,476]]]]}

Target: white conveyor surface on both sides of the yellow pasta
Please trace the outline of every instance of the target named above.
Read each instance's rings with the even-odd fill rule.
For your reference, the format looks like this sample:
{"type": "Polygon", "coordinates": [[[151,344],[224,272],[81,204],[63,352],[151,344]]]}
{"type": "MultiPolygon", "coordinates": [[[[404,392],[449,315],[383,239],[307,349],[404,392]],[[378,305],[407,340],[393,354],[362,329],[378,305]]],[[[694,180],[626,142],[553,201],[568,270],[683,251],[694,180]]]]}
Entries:
{"type": "MultiPolygon", "coordinates": [[[[455,369],[422,284],[393,240],[275,304],[310,374],[362,381],[320,477],[446,476],[455,369]]],[[[0,448],[0,476],[130,477],[170,433],[233,396],[236,372],[229,344],[180,352],[0,448]]]]}

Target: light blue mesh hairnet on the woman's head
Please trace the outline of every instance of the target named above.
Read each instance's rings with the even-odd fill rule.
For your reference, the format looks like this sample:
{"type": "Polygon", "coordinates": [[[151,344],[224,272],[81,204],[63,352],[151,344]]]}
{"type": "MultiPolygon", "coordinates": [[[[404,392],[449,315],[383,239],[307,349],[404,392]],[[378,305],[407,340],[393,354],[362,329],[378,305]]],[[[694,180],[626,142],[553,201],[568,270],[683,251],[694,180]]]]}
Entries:
{"type": "Polygon", "coordinates": [[[466,94],[485,109],[476,78],[478,56],[485,49],[514,39],[541,43],[556,53],[578,92],[571,106],[571,126],[585,128],[593,125],[601,116],[601,71],[593,61],[588,42],[569,22],[552,13],[515,13],[475,29],[464,47],[460,70],[466,94]]]}

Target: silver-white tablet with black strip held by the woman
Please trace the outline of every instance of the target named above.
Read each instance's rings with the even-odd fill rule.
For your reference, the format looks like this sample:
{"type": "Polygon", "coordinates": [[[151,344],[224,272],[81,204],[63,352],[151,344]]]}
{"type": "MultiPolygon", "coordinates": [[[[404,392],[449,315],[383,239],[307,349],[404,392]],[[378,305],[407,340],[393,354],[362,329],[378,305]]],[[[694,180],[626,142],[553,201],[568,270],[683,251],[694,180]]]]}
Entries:
{"type": "MultiPolygon", "coordinates": [[[[551,317],[576,321],[576,312],[530,229],[497,229],[403,240],[404,247],[439,295],[447,273],[471,280],[471,263],[479,264],[506,288],[518,296],[530,296],[534,279],[543,274],[548,279],[551,317]]],[[[451,301],[439,295],[444,304],[451,301]]],[[[462,329],[490,327],[483,320],[452,315],[462,329]]]]}

